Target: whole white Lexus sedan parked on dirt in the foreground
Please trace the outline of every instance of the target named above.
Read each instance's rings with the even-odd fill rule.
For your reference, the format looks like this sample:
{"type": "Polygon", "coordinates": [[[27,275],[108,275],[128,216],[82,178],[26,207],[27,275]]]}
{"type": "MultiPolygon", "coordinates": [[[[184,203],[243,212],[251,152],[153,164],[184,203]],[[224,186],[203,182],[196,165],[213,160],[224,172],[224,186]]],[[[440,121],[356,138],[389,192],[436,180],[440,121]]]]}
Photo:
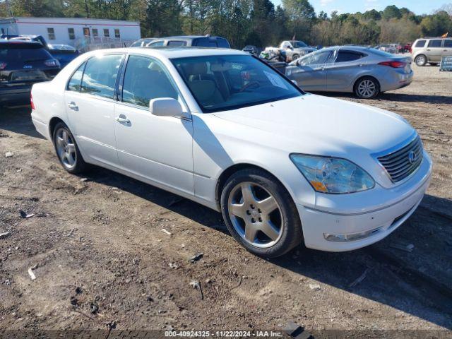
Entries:
{"type": "Polygon", "coordinates": [[[304,93],[231,49],[83,54],[33,85],[32,121],[68,172],[99,165],[221,211],[268,258],[383,239],[432,172],[402,117],[304,93]]]}

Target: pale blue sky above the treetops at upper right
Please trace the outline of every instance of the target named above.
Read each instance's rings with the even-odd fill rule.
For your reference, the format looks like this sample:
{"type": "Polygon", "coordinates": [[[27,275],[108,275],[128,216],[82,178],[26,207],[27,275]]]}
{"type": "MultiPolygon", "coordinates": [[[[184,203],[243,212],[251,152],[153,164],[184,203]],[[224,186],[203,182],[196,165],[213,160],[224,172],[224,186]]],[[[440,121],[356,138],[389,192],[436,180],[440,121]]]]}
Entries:
{"type": "MultiPolygon", "coordinates": [[[[281,0],[272,0],[273,4],[281,4],[281,0]]],[[[316,13],[324,11],[328,16],[332,11],[338,13],[365,12],[370,9],[382,11],[386,6],[396,5],[398,8],[406,7],[416,14],[431,14],[441,5],[452,2],[451,0],[309,0],[316,13]]]]}

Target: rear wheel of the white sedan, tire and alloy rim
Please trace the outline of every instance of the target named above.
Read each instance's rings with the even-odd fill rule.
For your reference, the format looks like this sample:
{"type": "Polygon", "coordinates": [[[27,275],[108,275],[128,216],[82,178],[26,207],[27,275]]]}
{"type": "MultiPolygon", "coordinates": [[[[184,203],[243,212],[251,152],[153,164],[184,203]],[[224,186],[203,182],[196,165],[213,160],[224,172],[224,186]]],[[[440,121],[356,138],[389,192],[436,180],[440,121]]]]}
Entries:
{"type": "Polygon", "coordinates": [[[59,162],[64,169],[72,174],[83,172],[87,165],[78,150],[76,139],[73,137],[68,126],[59,122],[54,128],[54,145],[59,162]]]}

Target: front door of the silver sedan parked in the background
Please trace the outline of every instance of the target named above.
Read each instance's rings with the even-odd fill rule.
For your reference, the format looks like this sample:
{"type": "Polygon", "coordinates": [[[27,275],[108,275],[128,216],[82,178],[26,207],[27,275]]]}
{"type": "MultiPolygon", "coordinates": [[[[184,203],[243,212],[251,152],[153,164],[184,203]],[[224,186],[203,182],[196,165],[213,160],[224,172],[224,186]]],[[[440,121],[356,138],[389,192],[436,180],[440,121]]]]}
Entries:
{"type": "Polygon", "coordinates": [[[304,90],[326,90],[326,63],[331,51],[309,54],[299,59],[296,66],[288,66],[286,75],[304,90]]]}

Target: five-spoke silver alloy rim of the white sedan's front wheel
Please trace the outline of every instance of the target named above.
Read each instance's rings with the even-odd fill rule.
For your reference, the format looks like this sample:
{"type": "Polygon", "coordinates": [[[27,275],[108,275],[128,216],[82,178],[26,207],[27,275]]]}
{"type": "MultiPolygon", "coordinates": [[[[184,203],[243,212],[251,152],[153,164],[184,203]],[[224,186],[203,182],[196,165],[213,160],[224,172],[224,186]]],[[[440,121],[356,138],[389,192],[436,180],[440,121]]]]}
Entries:
{"type": "Polygon", "coordinates": [[[268,248],[283,234],[283,217],[275,197],[255,182],[234,186],[228,199],[229,217],[245,242],[268,248]]]}

